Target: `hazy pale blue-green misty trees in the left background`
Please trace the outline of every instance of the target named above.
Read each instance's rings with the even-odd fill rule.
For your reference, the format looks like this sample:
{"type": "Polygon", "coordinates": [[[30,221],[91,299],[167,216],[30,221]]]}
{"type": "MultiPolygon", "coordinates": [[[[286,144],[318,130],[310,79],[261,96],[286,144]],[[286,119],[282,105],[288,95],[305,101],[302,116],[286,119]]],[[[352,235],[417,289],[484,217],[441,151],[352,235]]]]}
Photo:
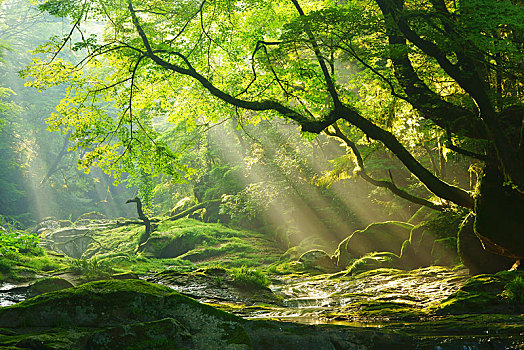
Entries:
{"type": "Polygon", "coordinates": [[[25,226],[45,216],[76,218],[92,210],[123,215],[132,195],[111,186],[99,169],[91,174],[78,169],[83,150],[68,150],[67,130],[47,130],[45,120],[64,97],[63,86],[41,94],[19,76],[33,57],[29,51],[62,27],[61,19],[40,13],[30,1],[0,4],[0,215],[25,226]]]}

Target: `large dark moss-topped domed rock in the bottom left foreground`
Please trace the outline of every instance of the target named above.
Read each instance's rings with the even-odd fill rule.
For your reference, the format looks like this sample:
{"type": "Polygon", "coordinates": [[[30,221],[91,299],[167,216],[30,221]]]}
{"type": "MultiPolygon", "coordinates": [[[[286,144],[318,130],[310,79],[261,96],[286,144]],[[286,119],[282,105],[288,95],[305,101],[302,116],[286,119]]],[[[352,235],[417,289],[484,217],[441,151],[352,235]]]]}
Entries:
{"type": "MultiPolygon", "coordinates": [[[[91,282],[25,300],[0,309],[0,327],[33,329],[35,336],[39,327],[82,327],[87,334],[71,339],[69,347],[75,349],[112,349],[133,342],[150,344],[142,348],[165,348],[176,341],[177,348],[251,348],[239,317],[140,280],[91,282]]],[[[0,337],[0,345],[4,340],[0,337]]]]}

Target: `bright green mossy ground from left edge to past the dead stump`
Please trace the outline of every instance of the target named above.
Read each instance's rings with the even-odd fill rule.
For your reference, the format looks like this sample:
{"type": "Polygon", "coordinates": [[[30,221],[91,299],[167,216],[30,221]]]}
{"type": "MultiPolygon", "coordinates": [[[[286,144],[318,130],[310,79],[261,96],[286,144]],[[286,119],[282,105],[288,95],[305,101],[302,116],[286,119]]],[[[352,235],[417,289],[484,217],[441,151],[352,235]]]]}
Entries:
{"type": "MultiPolygon", "coordinates": [[[[89,226],[87,226],[89,227],[89,226]]],[[[129,224],[115,227],[112,222],[93,228],[81,259],[43,251],[40,255],[9,253],[0,256],[0,282],[29,281],[39,275],[76,274],[77,283],[108,278],[113,273],[155,274],[166,269],[180,272],[220,264],[226,268],[267,268],[284,253],[263,234],[235,230],[221,224],[193,219],[162,221],[153,237],[189,237],[190,249],[172,258],[155,258],[137,252],[144,227],[129,224]],[[193,242],[191,242],[191,240],[193,242]]],[[[77,284],[75,283],[75,284],[77,284]]]]}

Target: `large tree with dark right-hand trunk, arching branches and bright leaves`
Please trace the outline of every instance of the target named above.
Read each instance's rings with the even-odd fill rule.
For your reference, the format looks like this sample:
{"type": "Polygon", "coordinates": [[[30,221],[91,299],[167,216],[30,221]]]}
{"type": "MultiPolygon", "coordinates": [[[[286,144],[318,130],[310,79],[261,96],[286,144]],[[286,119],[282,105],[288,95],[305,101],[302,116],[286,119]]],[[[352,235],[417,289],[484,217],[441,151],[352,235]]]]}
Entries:
{"type": "Polygon", "coordinates": [[[435,209],[470,209],[485,249],[521,259],[522,6],[49,0],[41,9],[69,16],[72,29],[45,47],[52,60],[35,61],[30,73],[38,88],[69,82],[61,114],[50,123],[72,128],[76,145],[91,149],[86,165],[176,175],[179,155],[159,140],[152,120],[233,114],[241,121],[278,116],[304,133],[338,137],[366,176],[358,140],[351,139],[358,129],[395,154],[434,197],[412,196],[393,178],[368,181],[435,209]],[[87,18],[104,21],[103,34],[86,33],[87,18]],[[58,59],[66,43],[85,58],[58,59]],[[434,140],[482,164],[476,192],[424,166],[406,133],[395,129],[399,123],[423,125],[434,140]],[[151,155],[154,162],[144,161],[151,155]]]}

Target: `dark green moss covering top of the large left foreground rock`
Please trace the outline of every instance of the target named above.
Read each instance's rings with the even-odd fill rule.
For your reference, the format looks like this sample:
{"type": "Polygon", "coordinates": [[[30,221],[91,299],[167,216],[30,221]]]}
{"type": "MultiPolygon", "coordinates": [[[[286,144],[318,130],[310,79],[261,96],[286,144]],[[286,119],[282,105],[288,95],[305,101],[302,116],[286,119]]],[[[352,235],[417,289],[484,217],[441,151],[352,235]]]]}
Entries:
{"type": "Polygon", "coordinates": [[[0,309],[0,327],[63,325],[111,326],[122,322],[149,322],[170,315],[194,313],[237,320],[183,296],[172,289],[140,280],[86,283],[51,292],[0,309]]]}

